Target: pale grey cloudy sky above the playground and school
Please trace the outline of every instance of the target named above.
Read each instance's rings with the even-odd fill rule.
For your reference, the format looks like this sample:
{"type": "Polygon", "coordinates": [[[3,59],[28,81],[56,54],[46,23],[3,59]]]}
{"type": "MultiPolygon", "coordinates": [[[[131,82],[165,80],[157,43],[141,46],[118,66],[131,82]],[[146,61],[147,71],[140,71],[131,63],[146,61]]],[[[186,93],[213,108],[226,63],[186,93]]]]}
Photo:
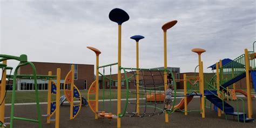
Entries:
{"type": "MultiPolygon", "coordinates": [[[[31,62],[96,64],[86,46],[99,49],[99,65],[117,62],[118,26],[110,21],[114,8],[129,14],[122,24],[122,66],[136,67],[134,35],[139,41],[139,67],[164,66],[161,26],[167,30],[167,66],[193,72],[202,48],[204,72],[219,59],[253,50],[256,41],[256,2],[247,1],[5,1],[0,0],[0,54],[28,55],[31,62]]],[[[8,62],[11,66],[18,63],[8,62]]]]}

